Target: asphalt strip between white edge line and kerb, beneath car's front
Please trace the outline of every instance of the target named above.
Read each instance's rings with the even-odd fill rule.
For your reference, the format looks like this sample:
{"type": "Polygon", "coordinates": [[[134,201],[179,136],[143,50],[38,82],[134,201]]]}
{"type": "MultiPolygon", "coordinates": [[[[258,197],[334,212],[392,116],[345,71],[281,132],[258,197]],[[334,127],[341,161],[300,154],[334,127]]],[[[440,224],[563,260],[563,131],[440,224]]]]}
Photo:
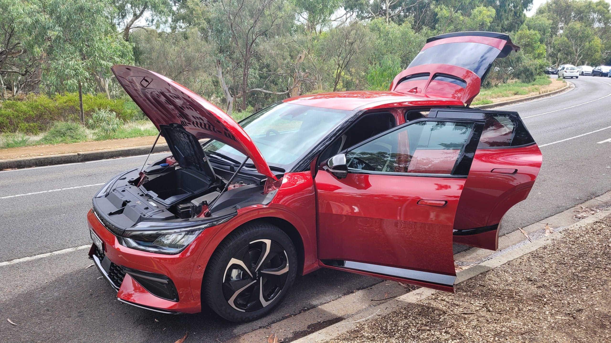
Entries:
{"type": "MultiPolygon", "coordinates": [[[[42,273],[44,274],[44,273],[42,273]]],[[[91,267],[71,271],[31,291],[4,298],[2,342],[225,342],[270,323],[307,311],[381,280],[337,270],[299,276],[284,302],[251,323],[232,323],[204,306],[198,314],[160,314],[116,300],[116,292],[91,267]]]]}

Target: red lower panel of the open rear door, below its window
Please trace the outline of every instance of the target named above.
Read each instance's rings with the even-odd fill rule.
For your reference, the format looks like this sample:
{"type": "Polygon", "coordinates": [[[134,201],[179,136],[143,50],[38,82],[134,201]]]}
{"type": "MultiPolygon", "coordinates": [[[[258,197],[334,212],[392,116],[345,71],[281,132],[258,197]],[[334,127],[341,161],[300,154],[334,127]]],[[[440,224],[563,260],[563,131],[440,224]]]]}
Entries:
{"type": "MultiPolygon", "coordinates": [[[[472,229],[500,223],[511,207],[529,195],[542,161],[541,150],[536,144],[522,148],[478,149],[458,204],[454,228],[472,229]],[[518,171],[515,174],[492,173],[496,168],[518,171]]],[[[463,242],[464,237],[461,238],[463,242]]],[[[456,237],[455,241],[458,242],[456,237]]]]}

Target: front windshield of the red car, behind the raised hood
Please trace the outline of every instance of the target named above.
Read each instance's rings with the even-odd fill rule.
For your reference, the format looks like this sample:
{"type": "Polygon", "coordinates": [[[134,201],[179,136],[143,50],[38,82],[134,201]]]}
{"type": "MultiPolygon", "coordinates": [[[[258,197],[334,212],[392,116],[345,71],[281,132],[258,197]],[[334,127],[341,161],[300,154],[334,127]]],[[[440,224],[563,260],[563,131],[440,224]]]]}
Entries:
{"type": "MultiPolygon", "coordinates": [[[[268,164],[288,170],[316,141],[351,114],[354,111],[277,103],[240,121],[240,126],[268,164]]],[[[244,159],[240,151],[216,140],[208,141],[203,150],[238,161],[244,159]]]]}

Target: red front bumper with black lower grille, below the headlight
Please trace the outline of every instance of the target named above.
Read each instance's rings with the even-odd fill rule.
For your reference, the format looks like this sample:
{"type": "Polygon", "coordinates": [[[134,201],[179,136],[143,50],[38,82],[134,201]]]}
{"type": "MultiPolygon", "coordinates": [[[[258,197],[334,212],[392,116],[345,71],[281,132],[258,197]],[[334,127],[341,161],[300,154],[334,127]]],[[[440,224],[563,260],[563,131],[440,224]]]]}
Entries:
{"type": "Polygon", "coordinates": [[[103,251],[93,244],[89,256],[104,279],[117,291],[119,301],[166,314],[201,311],[199,296],[194,297],[191,289],[192,270],[199,256],[194,251],[195,241],[177,255],[148,253],[120,245],[117,237],[102,225],[92,211],[87,214],[87,222],[103,242],[103,251]],[[160,293],[159,286],[166,289],[160,293]],[[172,290],[175,292],[174,300],[168,300],[172,297],[167,295],[156,295],[172,293],[172,290]]]}

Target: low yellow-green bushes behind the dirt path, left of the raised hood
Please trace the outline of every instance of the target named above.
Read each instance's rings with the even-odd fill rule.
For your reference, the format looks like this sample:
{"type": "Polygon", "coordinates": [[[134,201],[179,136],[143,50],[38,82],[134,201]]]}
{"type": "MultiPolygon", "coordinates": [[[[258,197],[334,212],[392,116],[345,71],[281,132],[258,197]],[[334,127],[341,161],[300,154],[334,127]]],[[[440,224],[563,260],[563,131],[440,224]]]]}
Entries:
{"type": "MultiPolygon", "coordinates": [[[[131,120],[137,114],[133,107],[130,108],[134,104],[126,99],[86,94],[82,100],[86,118],[90,118],[96,109],[106,108],[115,112],[120,120],[131,120]]],[[[30,93],[21,100],[0,103],[0,132],[37,134],[49,129],[54,121],[79,121],[77,93],[53,96],[30,93]]]]}

